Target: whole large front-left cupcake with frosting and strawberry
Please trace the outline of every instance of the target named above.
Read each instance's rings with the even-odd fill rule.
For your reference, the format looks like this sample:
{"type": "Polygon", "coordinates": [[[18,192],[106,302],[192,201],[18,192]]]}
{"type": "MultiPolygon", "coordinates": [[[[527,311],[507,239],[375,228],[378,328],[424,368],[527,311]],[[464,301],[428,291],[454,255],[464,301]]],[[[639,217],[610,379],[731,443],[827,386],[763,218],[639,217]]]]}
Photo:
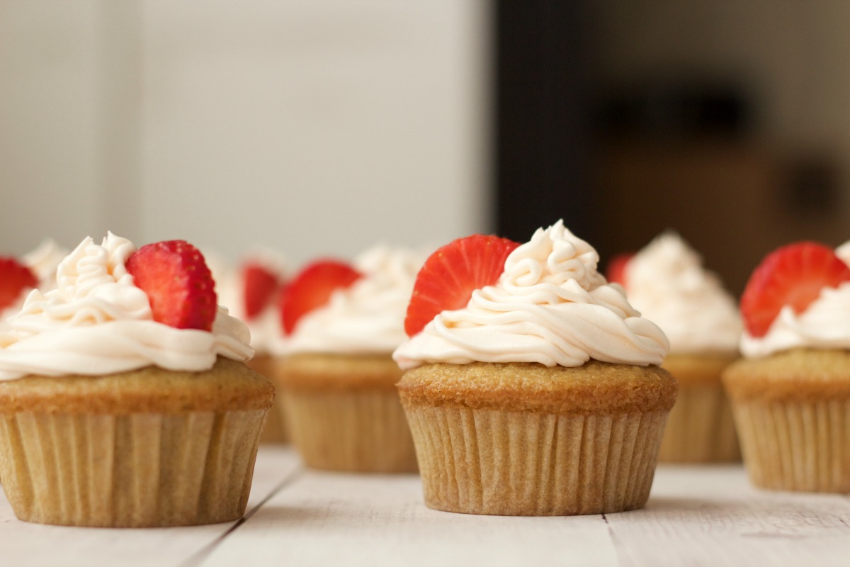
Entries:
{"type": "Polygon", "coordinates": [[[238,519],[273,402],[201,253],[87,238],[0,335],[0,476],[19,519],[238,519]]]}

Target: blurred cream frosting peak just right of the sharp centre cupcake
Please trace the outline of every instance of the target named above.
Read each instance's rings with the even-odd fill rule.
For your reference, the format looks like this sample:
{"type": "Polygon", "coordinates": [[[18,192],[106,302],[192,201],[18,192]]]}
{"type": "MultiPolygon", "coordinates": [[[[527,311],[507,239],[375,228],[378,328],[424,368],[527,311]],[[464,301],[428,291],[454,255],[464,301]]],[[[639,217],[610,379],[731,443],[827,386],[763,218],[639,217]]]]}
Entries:
{"type": "Polygon", "coordinates": [[[626,297],[670,339],[675,354],[734,353],[741,318],[734,298],[675,232],[665,232],[626,264],[626,297]]]}

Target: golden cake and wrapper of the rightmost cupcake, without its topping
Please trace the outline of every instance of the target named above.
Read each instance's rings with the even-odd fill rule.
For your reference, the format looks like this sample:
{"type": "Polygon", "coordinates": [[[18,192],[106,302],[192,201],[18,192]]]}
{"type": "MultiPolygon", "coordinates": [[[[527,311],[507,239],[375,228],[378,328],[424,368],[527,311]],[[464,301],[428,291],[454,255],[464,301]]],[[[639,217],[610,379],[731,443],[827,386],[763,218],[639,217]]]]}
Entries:
{"type": "Polygon", "coordinates": [[[753,485],[850,493],[850,353],[794,349],[740,360],[723,383],[753,485]]]}

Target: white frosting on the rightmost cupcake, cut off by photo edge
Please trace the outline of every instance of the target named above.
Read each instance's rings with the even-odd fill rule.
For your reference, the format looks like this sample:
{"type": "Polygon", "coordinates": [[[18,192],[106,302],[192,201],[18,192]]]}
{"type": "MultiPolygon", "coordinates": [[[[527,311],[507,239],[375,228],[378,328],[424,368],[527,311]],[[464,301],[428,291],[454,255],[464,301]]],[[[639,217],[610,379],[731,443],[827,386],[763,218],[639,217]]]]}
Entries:
{"type": "MultiPolygon", "coordinates": [[[[850,242],[838,247],[836,255],[847,264],[850,261],[850,242]]],[[[764,337],[753,337],[745,331],[740,340],[741,354],[747,358],[800,347],[850,349],[850,282],[838,287],[825,287],[800,314],[796,314],[790,305],[785,305],[764,337]]]]}

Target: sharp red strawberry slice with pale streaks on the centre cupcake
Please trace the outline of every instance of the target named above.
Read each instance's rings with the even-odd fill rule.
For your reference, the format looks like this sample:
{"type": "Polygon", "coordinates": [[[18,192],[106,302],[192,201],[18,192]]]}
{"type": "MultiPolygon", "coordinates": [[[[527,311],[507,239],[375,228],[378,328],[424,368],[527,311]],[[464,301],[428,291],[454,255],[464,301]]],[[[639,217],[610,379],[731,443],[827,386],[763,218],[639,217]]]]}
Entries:
{"type": "Polygon", "coordinates": [[[473,292],[499,281],[505,258],[519,243],[498,236],[459,238],[433,252],[416,275],[405,332],[412,337],[436,315],[462,309],[473,292]]]}

